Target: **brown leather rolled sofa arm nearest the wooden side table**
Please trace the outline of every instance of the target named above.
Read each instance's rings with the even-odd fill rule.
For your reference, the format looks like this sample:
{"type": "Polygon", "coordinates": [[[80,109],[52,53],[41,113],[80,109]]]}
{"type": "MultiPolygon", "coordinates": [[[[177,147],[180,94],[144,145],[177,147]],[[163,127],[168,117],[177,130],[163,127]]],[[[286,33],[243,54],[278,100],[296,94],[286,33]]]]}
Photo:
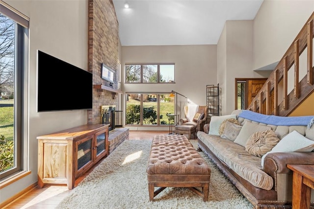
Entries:
{"type": "Polygon", "coordinates": [[[287,164],[314,164],[314,152],[275,152],[264,159],[264,171],[275,178],[276,174],[292,172],[287,164]]]}

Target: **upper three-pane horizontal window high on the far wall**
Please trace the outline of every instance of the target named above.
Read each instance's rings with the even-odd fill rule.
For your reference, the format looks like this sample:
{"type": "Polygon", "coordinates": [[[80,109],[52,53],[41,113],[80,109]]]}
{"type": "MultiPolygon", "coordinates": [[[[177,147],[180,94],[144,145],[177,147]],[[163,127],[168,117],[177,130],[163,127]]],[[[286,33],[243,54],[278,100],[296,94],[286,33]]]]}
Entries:
{"type": "Polygon", "coordinates": [[[126,83],[172,83],[174,77],[174,64],[126,64],[126,83]]]}

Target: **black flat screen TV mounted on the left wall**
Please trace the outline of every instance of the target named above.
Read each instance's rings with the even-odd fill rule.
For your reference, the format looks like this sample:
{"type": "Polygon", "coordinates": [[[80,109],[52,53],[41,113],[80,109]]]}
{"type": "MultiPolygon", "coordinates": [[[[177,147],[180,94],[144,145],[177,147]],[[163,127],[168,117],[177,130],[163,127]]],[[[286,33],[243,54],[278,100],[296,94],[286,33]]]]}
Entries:
{"type": "Polygon", "coordinates": [[[37,111],[92,109],[92,73],[38,50],[37,111]]]}

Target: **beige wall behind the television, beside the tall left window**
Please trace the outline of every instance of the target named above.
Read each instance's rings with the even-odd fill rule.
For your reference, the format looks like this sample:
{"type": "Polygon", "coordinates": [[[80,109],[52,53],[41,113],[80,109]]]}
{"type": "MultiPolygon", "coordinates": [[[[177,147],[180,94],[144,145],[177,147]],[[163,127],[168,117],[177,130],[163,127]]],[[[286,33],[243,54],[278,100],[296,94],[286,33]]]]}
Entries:
{"type": "MultiPolygon", "coordinates": [[[[31,174],[0,190],[0,202],[37,182],[37,136],[87,123],[87,111],[37,113],[37,49],[87,70],[87,1],[4,0],[29,17],[27,167],[31,174]],[[40,8],[40,9],[39,9],[40,8]]],[[[52,83],[52,88],[56,83],[52,83]]],[[[72,90],[75,91],[75,87],[72,90]]]]}

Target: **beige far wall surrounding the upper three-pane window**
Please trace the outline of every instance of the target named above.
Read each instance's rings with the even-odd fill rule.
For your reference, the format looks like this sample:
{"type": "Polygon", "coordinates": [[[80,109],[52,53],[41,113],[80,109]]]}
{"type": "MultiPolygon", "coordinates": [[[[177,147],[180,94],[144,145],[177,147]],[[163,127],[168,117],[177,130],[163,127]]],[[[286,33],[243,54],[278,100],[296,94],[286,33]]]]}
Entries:
{"type": "Polygon", "coordinates": [[[206,85],[217,83],[216,60],[215,45],[122,46],[122,69],[126,63],[175,63],[175,83],[124,84],[123,91],[174,90],[195,104],[206,105],[206,85]]]}

